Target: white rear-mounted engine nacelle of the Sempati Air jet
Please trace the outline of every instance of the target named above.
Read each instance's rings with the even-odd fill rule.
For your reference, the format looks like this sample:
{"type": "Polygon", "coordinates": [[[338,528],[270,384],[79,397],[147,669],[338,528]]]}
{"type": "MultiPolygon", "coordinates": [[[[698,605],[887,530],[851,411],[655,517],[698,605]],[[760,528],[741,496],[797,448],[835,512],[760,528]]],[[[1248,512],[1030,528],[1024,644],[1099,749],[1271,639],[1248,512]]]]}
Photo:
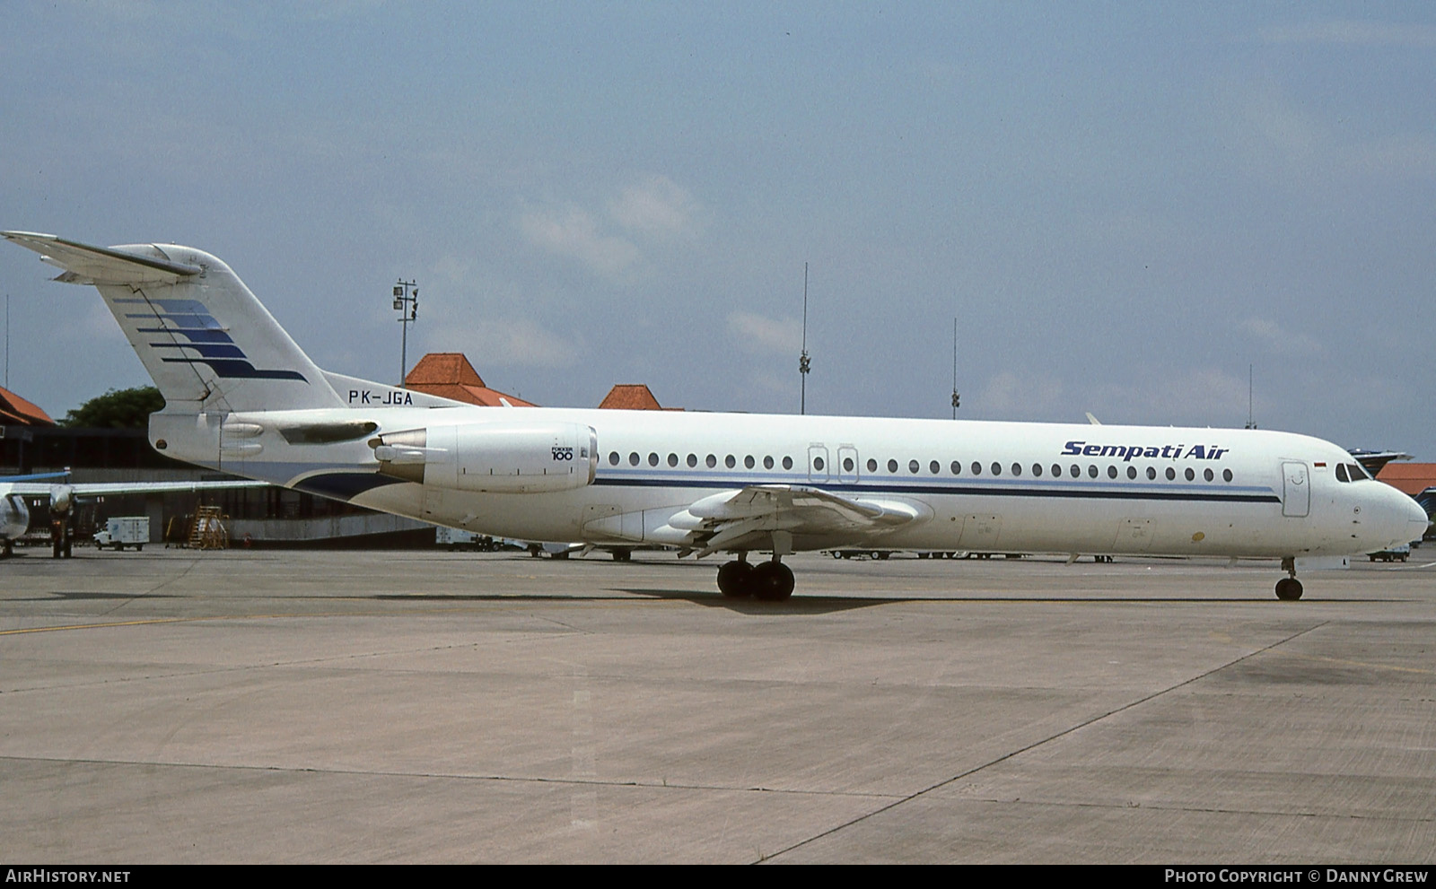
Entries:
{"type": "Polygon", "coordinates": [[[381,473],[460,491],[569,491],[592,484],[599,470],[597,432],[573,422],[428,427],[369,444],[381,473]]]}

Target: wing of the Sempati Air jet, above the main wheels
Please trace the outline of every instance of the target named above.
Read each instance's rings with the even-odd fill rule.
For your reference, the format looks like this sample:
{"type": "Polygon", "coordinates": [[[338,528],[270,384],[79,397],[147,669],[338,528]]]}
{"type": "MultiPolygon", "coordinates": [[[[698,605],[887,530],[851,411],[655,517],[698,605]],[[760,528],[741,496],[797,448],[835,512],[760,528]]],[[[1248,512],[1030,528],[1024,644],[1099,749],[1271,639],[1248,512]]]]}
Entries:
{"type": "MultiPolygon", "coordinates": [[[[698,557],[721,550],[793,551],[793,539],[836,546],[863,540],[931,517],[931,510],[902,500],[853,498],[793,484],[748,485],[704,497],[669,518],[686,530],[686,550],[698,557]]],[[[811,549],[810,546],[801,549],[811,549]]]]}

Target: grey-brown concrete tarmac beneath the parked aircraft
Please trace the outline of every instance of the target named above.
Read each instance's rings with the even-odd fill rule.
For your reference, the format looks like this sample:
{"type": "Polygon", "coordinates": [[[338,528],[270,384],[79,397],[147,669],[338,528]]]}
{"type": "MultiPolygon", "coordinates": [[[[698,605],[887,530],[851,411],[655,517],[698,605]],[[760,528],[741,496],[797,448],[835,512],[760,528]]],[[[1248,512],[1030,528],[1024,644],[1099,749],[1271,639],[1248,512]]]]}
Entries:
{"type": "Polygon", "coordinates": [[[1436,862],[1436,554],[30,551],[0,856],[1436,862]],[[1426,559],[1422,556],[1427,554],[1426,559]]]}

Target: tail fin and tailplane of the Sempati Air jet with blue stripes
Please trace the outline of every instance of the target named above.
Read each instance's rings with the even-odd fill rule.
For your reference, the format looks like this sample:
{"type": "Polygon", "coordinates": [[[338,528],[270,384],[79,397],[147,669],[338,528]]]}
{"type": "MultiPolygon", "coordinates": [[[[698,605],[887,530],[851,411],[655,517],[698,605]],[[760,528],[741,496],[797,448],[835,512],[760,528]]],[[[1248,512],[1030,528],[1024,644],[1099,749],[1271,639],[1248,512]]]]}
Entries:
{"type": "Polygon", "coordinates": [[[345,406],[325,373],[223,261],[175,244],[93,247],[0,233],[93,284],[165,398],[165,412],[345,406]]]}

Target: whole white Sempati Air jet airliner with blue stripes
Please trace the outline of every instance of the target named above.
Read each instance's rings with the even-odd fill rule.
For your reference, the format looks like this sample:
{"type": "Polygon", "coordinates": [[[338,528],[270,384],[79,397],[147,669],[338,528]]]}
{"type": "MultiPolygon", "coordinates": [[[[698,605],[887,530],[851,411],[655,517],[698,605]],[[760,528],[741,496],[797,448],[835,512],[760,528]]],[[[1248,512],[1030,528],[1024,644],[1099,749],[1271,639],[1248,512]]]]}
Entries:
{"type": "Polygon", "coordinates": [[[497,537],[734,553],[785,599],[830,547],[1281,559],[1374,551],[1426,514],[1330,442],[1258,429],[478,408],[320,371],[218,259],[4,237],[95,284],[192,464],[497,537]],[[754,553],[771,559],[748,562],[754,553]]]}

